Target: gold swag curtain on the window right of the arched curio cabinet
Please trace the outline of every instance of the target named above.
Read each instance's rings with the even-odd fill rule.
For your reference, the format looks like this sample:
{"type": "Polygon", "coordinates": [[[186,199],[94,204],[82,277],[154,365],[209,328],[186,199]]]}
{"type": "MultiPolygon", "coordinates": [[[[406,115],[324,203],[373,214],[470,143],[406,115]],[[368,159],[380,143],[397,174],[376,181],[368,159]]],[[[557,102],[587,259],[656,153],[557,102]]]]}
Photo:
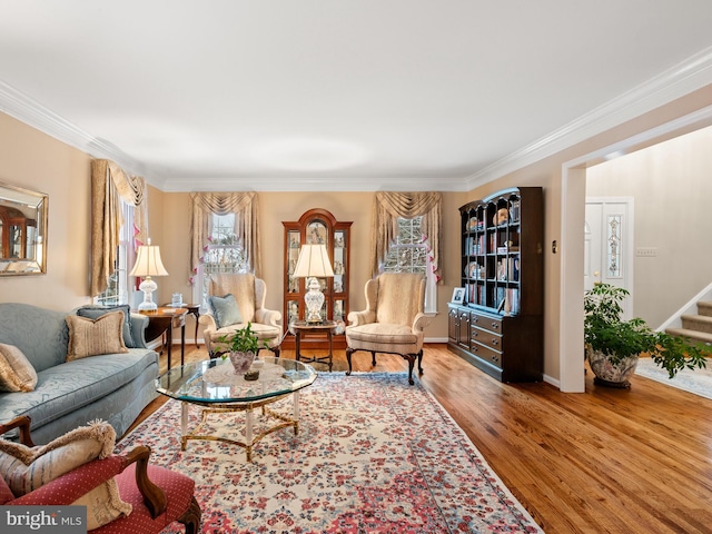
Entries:
{"type": "Polygon", "coordinates": [[[433,274],[441,280],[439,265],[442,243],[442,195],[435,191],[426,192],[376,192],[374,200],[374,217],[372,226],[372,276],[380,273],[388,248],[398,235],[398,217],[412,219],[423,217],[421,226],[423,240],[429,244],[428,256],[433,274]]]}

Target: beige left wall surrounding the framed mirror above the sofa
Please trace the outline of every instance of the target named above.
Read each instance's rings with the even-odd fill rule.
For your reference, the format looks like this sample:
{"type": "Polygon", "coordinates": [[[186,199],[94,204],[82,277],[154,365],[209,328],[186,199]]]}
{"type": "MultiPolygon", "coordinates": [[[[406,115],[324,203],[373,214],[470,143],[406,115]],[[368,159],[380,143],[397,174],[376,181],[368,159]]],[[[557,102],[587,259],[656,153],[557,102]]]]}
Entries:
{"type": "Polygon", "coordinates": [[[0,181],[49,195],[47,274],[0,277],[0,301],[90,301],[90,157],[0,113],[0,181]]]}

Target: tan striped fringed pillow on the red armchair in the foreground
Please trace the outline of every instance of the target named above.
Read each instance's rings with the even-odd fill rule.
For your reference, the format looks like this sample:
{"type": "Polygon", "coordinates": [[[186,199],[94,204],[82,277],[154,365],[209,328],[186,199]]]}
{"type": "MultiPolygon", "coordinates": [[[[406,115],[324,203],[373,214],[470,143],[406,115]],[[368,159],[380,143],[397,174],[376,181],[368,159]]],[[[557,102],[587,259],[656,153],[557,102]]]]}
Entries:
{"type": "MultiPolygon", "coordinates": [[[[0,475],[12,494],[20,497],[92,459],[106,458],[115,444],[116,431],[101,421],[90,422],[38,447],[0,439],[0,475]]],[[[72,504],[87,506],[88,531],[131,513],[131,505],[121,501],[113,478],[72,504]]]]}

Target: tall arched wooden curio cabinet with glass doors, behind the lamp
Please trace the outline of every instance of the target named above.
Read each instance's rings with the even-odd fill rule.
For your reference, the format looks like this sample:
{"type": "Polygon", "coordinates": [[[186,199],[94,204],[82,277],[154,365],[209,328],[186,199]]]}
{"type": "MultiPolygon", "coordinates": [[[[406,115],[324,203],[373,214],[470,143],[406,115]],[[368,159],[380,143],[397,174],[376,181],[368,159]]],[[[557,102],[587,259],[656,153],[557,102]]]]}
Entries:
{"type": "MultiPolygon", "coordinates": [[[[284,332],[287,333],[289,324],[306,318],[304,296],[307,291],[306,281],[293,276],[297,265],[301,245],[324,244],[329,253],[334,278],[320,278],[324,305],[322,318],[336,323],[346,323],[348,316],[348,290],[350,269],[350,221],[338,221],[326,209],[310,209],[299,220],[283,221],[285,227],[285,271],[284,271],[284,312],[281,317],[284,332]]],[[[285,337],[283,346],[293,348],[294,336],[285,337]]],[[[324,336],[314,338],[303,336],[303,348],[328,349],[328,342],[324,336]]],[[[333,336],[334,348],[345,348],[346,338],[343,332],[333,336]]]]}

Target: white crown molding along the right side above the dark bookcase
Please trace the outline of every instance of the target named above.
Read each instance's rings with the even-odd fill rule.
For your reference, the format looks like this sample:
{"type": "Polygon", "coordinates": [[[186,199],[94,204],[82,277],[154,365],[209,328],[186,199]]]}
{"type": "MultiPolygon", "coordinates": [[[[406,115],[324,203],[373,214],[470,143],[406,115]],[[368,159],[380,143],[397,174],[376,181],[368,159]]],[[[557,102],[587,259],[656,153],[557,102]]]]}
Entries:
{"type": "Polygon", "coordinates": [[[712,83],[712,47],[591,110],[576,120],[469,175],[467,189],[541,161],[712,83]]]}

